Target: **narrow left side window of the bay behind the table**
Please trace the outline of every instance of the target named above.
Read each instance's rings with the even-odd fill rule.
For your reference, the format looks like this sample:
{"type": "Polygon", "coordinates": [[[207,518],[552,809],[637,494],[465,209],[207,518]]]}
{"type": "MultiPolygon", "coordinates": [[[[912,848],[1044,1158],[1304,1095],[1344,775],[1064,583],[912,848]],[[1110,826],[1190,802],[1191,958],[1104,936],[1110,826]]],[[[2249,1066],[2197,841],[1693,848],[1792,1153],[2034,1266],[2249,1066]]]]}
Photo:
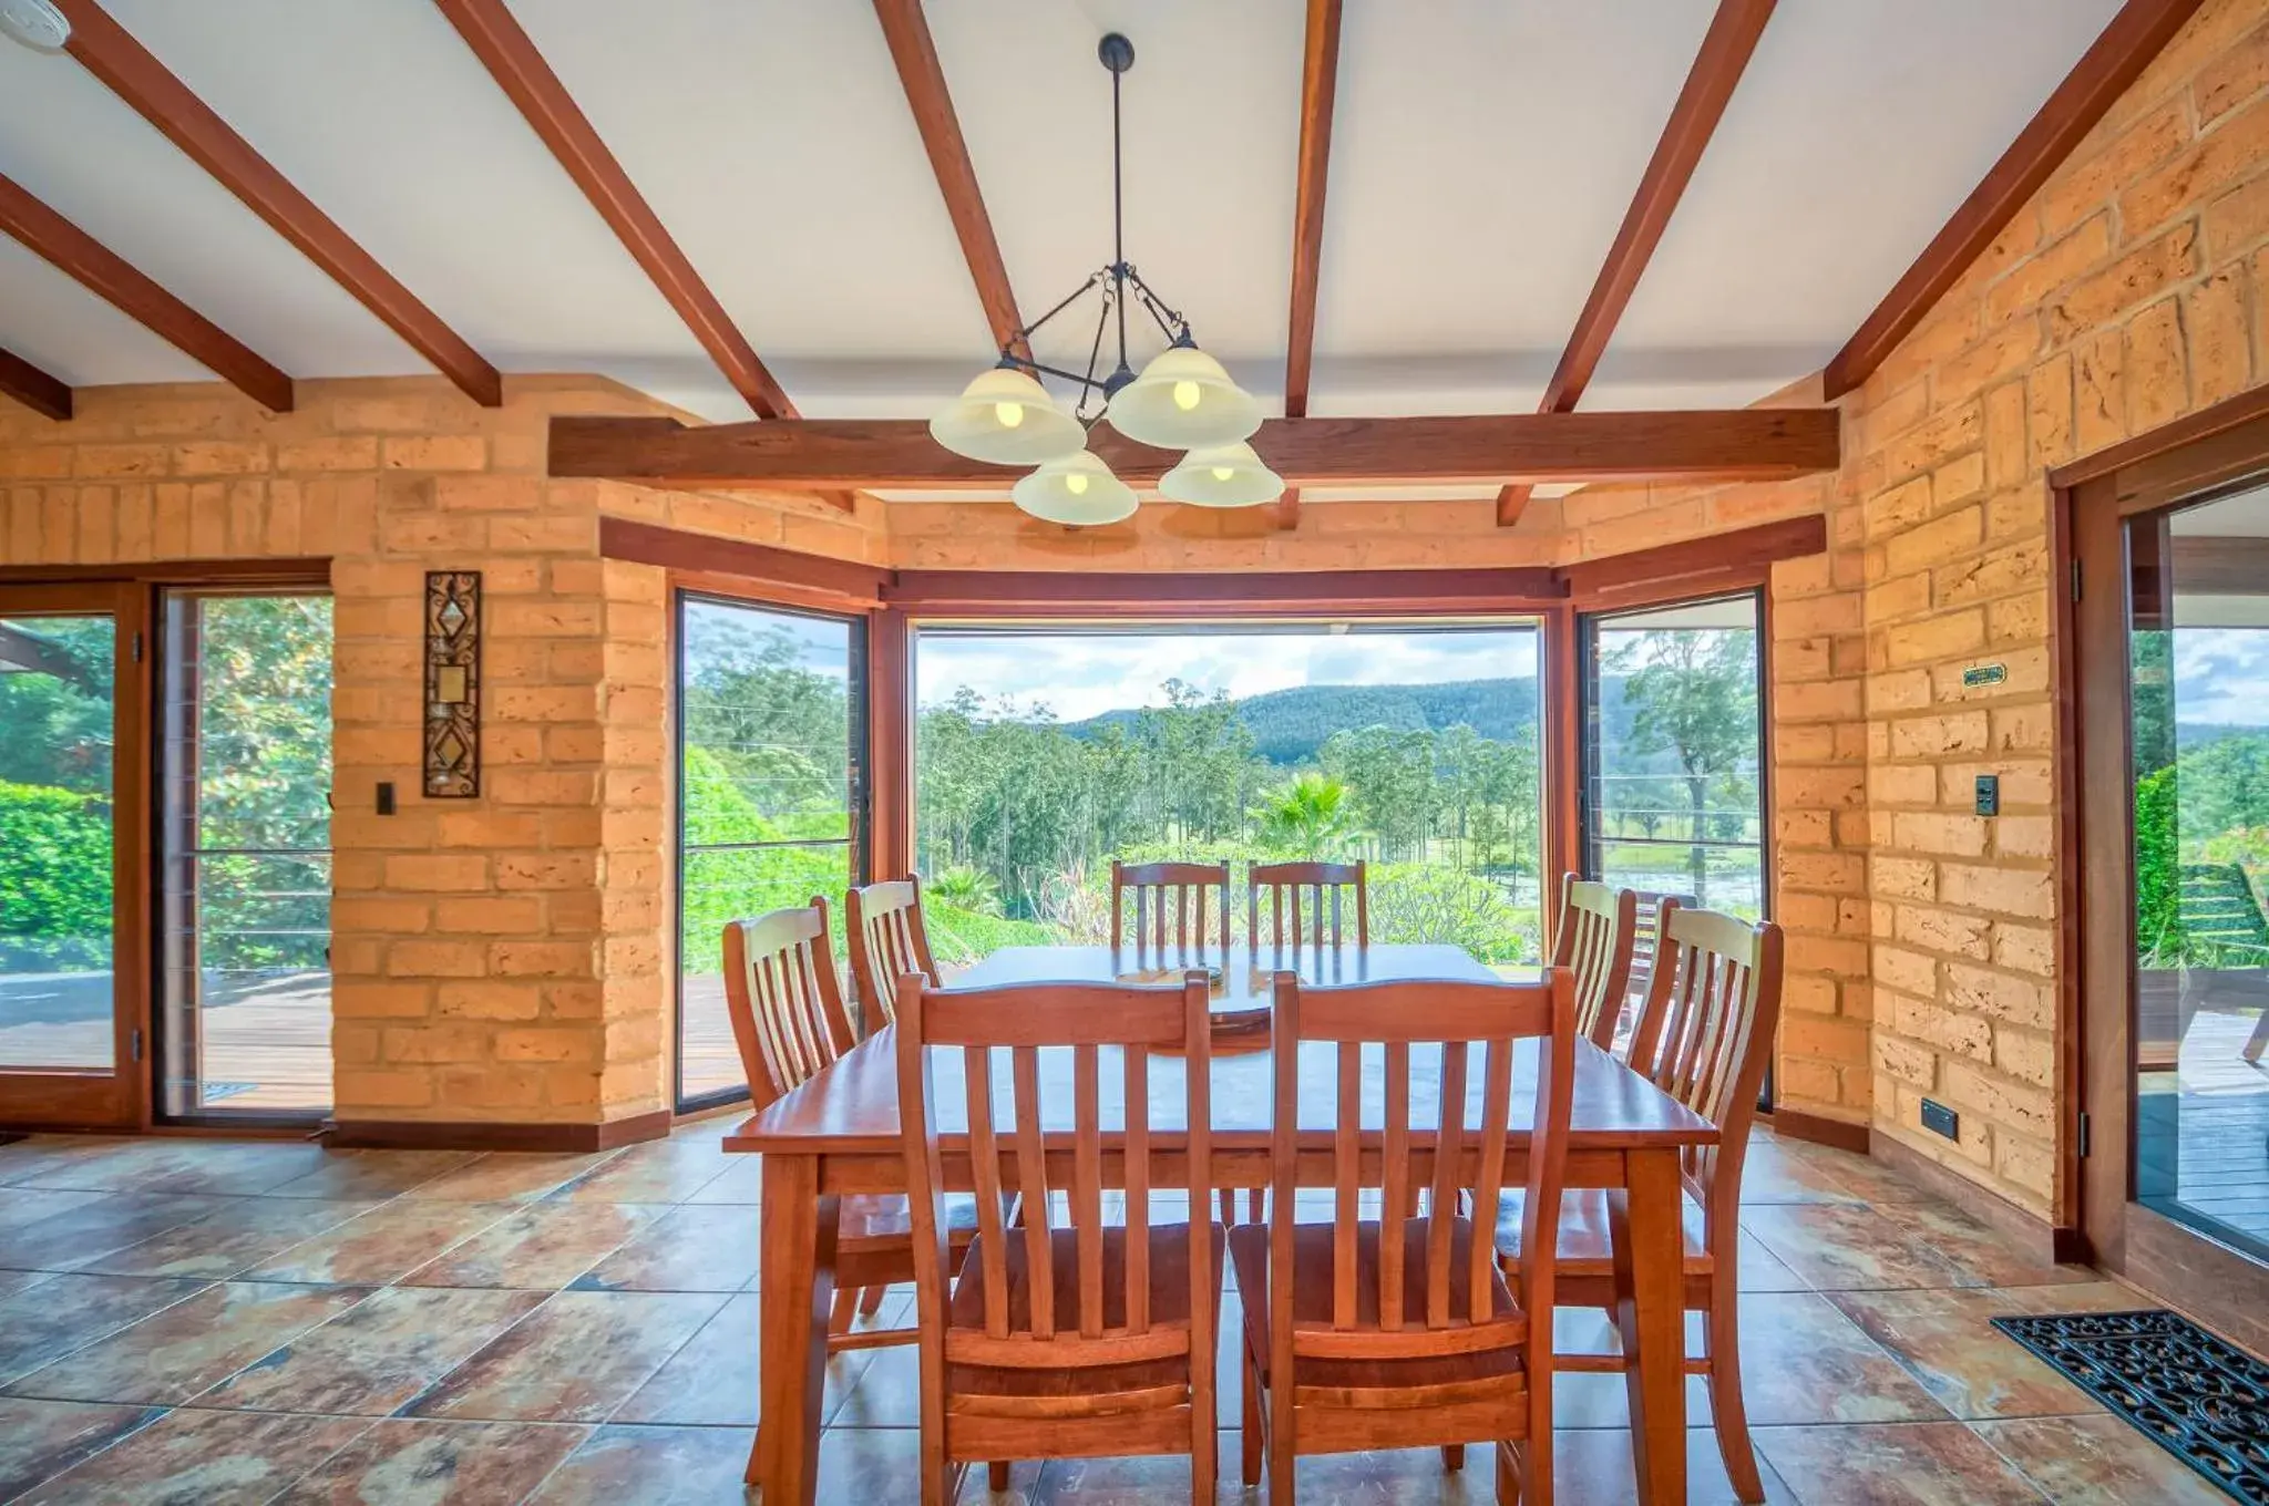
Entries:
{"type": "Polygon", "coordinates": [[[678,1107],[747,1091],[724,923],[842,896],[864,862],[864,624],[678,597],[678,1107]]]}

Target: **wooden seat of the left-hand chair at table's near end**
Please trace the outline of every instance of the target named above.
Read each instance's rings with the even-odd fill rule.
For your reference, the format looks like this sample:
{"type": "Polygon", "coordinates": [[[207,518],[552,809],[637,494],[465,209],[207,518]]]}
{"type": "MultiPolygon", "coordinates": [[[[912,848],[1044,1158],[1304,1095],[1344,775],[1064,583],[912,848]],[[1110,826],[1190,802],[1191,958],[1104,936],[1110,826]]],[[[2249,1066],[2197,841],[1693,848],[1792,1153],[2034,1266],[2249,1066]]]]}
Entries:
{"type": "MultiPolygon", "coordinates": [[[[1221,1318],[1221,1254],[1228,1238],[1216,1222],[1214,1232],[1214,1318],[1221,1318]]],[[[1189,1225],[1153,1225],[1150,1236],[1150,1327],[1189,1327],[1189,1225]]],[[[985,1236],[969,1243],[962,1257],[960,1277],[946,1300],[946,1347],[953,1334],[985,1334],[985,1272],[1001,1261],[1007,1275],[1007,1325],[1012,1331],[1032,1327],[1032,1259],[1026,1250],[1023,1229],[1007,1229],[996,1250],[985,1236]]],[[[1055,1331],[1071,1338],[1080,1331],[1080,1245],[1073,1229],[1048,1232],[1048,1268],[1055,1293],[1055,1331]]],[[[1103,1229],[1103,1327],[1125,1327],[1125,1268],[1128,1229],[1103,1229]]],[[[948,1363],[946,1390],[976,1393],[989,1397],[1091,1397],[1105,1393],[1153,1390],[1159,1386],[1189,1384],[1189,1356],[1173,1354],[1137,1363],[1100,1365],[978,1365],[948,1363]]]]}

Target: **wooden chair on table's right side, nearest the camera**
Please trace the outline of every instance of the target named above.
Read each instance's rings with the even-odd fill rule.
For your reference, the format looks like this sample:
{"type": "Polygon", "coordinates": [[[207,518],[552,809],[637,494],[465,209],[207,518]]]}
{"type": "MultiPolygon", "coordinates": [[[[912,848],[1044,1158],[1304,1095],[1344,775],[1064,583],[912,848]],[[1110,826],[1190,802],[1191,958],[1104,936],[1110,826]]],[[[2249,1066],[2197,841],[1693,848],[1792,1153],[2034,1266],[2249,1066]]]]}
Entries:
{"type": "MultiPolygon", "coordinates": [[[[1718,1141],[1681,1154],[1686,1232],[1686,1311],[1704,1313],[1704,1354],[1688,1374],[1709,1377],[1711,1418],[1724,1472],[1743,1501],[1765,1486],[1740,1399],[1740,1166],[1781,1018],[1781,928],[1715,909],[1663,903],[1663,939],[1647,980],[1647,1002],[1631,1037],[1631,1068],[1718,1127],[1718,1141]]],[[[1498,1225],[1509,1272],[1522,1250],[1541,1250],[1527,1225],[1498,1225]]],[[[1559,1295],[1570,1306],[1616,1306],[1616,1250],[1606,1193],[1568,1193],[1561,1204],[1559,1295]]],[[[1561,1354],[1561,1370],[1622,1372],[1627,1354],[1561,1354]]]]}

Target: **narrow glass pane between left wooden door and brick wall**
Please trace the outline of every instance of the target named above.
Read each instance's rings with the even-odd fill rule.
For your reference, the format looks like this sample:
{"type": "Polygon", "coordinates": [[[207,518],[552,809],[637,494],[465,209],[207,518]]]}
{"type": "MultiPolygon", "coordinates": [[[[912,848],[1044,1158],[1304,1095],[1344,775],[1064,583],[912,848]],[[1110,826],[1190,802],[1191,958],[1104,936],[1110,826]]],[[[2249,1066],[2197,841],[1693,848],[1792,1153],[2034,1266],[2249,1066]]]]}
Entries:
{"type": "Polygon", "coordinates": [[[331,1107],[331,599],[166,599],[163,1109],[331,1107]]]}

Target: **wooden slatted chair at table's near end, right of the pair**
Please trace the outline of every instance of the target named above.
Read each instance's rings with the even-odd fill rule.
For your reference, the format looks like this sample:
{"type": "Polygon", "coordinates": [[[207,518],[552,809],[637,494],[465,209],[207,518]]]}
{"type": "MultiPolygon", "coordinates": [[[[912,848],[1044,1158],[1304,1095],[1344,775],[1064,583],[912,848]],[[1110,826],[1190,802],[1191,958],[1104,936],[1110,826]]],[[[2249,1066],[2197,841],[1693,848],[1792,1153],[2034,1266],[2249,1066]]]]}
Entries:
{"type": "MultiPolygon", "coordinates": [[[[1498,1499],[1550,1506],[1554,1270],[1532,1261],[1509,1284],[1495,1229],[1513,1043],[1536,1039],[1522,1232],[1557,1238],[1575,980],[1554,968],[1541,984],[1302,989],[1277,973],[1271,1025],[1275,1207],[1266,1227],[1230,1232],[1246,1313],[1246,1483],[1259,1483],[1266,1454],[1268,1499],[1289,1506],[1298,1454],[1441,1447],[1454,1467],[1466,1442],[1486,1438],[1498,1445],[1498,1499]],[[1414,1071],[1414,1046],[1439,1055],[1420,1050],[1414,1071]],[[1336,1082],[1330,1222],[1296,1220],[1309,1077],[1336,1082]],[[1434,1125],[1414,1127],[1414,1100],[1439,1105],[1434,1125]],[[1366,1102],[1380,1105],[1373,1154],[1386,1218],[1361,1216],[1366,1102]],[[1395,1216],[1418,1207],[1420,1188],[1423,1211],[1395,1216]]],[[[1323,1114],[1309,1109],[1307,1120],[1323,1114]]]]}

